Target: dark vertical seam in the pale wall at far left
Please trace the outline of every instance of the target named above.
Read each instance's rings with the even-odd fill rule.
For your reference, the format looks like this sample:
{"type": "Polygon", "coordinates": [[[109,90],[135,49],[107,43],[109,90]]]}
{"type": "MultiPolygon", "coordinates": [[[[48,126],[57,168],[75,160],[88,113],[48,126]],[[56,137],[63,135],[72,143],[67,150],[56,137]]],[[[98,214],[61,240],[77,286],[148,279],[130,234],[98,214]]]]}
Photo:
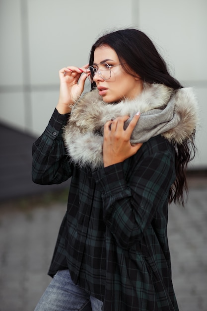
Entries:
{"type": "Polygon", "coordinates": [[[29,22],[27,0],[20,0],[21,16],[21,56],[23,76],[23,101],[25,128],[32,131],[32,108],[31,108],[31,75],[29,57],[29,22]]]}

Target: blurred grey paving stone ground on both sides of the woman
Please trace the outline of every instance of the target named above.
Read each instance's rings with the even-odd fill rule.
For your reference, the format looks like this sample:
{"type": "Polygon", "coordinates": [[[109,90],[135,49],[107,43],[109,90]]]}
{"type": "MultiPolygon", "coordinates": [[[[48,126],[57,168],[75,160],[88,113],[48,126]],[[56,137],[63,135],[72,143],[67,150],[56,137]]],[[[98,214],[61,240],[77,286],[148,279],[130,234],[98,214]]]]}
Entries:
{"type": "MultiPolygon", "coordinates": [[[[66,205],[0,206],[0,311],[34,310],[66,205]]],[[[191,180],[185,208],[169,207],[168,237],[180,311],[207,311],[207,179],[191,180]]]]}

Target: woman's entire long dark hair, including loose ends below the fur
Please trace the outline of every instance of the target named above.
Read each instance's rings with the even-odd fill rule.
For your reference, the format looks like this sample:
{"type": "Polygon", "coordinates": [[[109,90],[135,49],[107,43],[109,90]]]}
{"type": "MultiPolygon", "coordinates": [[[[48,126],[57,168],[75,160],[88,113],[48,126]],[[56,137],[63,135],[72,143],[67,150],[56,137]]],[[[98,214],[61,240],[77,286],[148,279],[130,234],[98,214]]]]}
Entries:
{"type": "MultiPolygon", "coordinates": [[[[173,78],[167,69],[166,63],[158,53],[152,41],[138,29],[122,29],[103,35],[92,46],[89,65],[93,65],[94,51],[97,47],[108,45],[118,55],[123,69],[134,77],[140,77],[148,83],[160,83],[173,89],[183,86],[173,78]],[[124,64],[123,64],[124,63],[124,64]],[[132,73],[133,72],[133,73],[132,73]]],[[[92,84],[92,89],[95,83],[92,84]]],[[[184,195],[187,194],[186,169],[187,164],[195,156],[194,135],[182,145],[175,143],[175,171],[176,179],[170,188],[169,202],[178,202],[184,205],[184,195]]]]}

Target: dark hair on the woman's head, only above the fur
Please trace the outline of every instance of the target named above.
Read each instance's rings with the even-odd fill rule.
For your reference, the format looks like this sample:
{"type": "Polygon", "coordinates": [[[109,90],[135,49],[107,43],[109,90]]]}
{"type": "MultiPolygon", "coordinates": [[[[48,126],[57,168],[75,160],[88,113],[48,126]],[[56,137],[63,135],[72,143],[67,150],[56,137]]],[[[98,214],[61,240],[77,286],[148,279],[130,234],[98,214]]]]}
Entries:
{"type": "MultiPolygon", "coordinates": [[[[125,63],[122,67],[128,74],[135,76],[132,74],[133,70],[145,82],[161,83],[174,89],[182,87],[170,76],[164,60],[143,32],[137,29],[123,29],[105,34],[91,48],[90,66],[93,64],[95,49],[102,45],[108,45],[115,50],[120,63],[125,63]]],[[[95,87],[95,84],[92,87],[95,87]]]]}

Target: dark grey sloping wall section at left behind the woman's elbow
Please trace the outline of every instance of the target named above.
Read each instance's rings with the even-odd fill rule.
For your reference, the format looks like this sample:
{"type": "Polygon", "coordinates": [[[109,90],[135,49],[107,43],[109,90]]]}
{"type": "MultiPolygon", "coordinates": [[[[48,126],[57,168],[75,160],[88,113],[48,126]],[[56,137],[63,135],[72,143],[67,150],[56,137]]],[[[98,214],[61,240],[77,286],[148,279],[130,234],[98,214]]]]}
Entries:
{"type": "Polygon", "coordinates": [[[0,201],[69,188],[37,185],[31,179],[32,144],[36,137],[0,123],[0,201]]]}

